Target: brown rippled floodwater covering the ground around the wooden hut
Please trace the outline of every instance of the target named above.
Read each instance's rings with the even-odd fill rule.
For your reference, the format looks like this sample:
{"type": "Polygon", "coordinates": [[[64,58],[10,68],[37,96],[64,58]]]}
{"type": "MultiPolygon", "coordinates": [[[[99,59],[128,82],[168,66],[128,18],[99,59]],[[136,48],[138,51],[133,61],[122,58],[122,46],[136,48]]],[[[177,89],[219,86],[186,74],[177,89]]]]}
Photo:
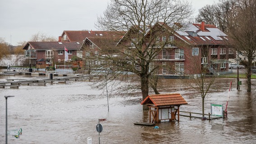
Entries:
{"type": "MultiPolygon", "coordinates": [[[[5,76],[6,78],[30,76],[5,76]]],[[[44,78],[44,77],[42,77],[44,78]]],[[[148,122],[148,112],[142,111],[140,94],[111,94],[109,112],[105,91],[91,86],[88,81],[67,81],[46,86],[21,85],[19,89],[0,89],[0,144],[5,144],[5,95],[8,98],[8,129],[22,128],[17,139],[8,136],[9,144],[92,144],[99,143],[96,131],[98,119],[103,131],[101,144],[255,144],[256,143],[256,90],[246,92],[245,80],[240,91],[229,83],[235,79],[218,80],[219,87],[205,99],[205,113],[210,103],[224,104],[228,94],[228,118],[213,121],[180,117],[180,121],[162,122],[154,126],[137,126],[134,122],[148,122]]],[[[255,80],[252,81],[256,83],[255,80]]],[[[193,90],[183,90],[178,80],[165,80],[168,87],[161,93],[181,93],[187,105],[181,111],[201,112],[201,97],[193,90]],[[176,88],[174,88],[176,86],[176,88]]]]}

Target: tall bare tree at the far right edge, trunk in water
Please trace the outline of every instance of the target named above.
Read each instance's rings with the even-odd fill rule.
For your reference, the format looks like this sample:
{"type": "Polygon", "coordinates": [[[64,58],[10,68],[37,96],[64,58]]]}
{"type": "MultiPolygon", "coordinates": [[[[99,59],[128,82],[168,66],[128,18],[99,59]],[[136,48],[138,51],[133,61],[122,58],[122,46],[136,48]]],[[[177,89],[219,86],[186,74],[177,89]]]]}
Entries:
{"type": "Polygon", "coordinates": [[[251,66],[256,56],[256,0],[236,0],[228,17],[228,35],[247,68],[247,92],[251,92],[251,66]],[[244,57],[246,59],[243,59],[244,57]]]}

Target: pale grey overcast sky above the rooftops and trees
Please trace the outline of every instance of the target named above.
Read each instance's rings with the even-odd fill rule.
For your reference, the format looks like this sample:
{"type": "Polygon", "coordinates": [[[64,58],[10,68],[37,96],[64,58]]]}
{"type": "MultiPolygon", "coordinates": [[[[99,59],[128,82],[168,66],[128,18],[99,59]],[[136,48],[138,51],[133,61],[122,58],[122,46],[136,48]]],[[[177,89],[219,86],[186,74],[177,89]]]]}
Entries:
{"type": "MultiPolygon", "coordinates": [[[[110,0],[0,0],[0,37],[12,45],[29,41],[41,32],[58,36],[63,31],[96,30],[97,16],[110,0]]],[[[219,0],[188,0],[197,10],[219,0]]]]}

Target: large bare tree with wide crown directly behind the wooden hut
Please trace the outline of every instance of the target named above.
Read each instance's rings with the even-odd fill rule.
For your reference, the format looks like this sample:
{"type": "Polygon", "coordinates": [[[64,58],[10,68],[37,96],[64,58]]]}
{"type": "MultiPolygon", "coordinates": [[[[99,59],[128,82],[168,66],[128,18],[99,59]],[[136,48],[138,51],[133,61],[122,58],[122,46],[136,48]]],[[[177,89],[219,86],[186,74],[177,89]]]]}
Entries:
{"type": "Polygon", "coordinates": [[[163,36],[163,31],[166,37],[172,35],[178,28],[172,27],[174,23],[182,23],[191,13],[190,4],[183,0],[111,0],[96,26],[110,31],[127,31],[119,41],[118,49],[115,48],[118,56],[104,56],[105,60],[111,61],[112,74],[135,74],[145,99],[150,78],[159,68],[151,69],[150,65],[167,42],[158,43],[158,36],[163,36]],[[171,28],[166,29],[167,25],[171,28]]]}

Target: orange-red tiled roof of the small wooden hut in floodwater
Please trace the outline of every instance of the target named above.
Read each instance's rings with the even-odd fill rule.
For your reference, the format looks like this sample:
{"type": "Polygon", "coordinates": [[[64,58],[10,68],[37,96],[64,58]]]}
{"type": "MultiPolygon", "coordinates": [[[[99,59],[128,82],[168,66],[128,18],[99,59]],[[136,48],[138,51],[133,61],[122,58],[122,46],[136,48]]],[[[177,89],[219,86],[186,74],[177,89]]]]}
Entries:
{"type": "Polygon", "coordinates": [[[155,104],[155,106],[170,106],[187,104],[180,94],[152,94],[148,95],[141,104],[155,104]]]}

